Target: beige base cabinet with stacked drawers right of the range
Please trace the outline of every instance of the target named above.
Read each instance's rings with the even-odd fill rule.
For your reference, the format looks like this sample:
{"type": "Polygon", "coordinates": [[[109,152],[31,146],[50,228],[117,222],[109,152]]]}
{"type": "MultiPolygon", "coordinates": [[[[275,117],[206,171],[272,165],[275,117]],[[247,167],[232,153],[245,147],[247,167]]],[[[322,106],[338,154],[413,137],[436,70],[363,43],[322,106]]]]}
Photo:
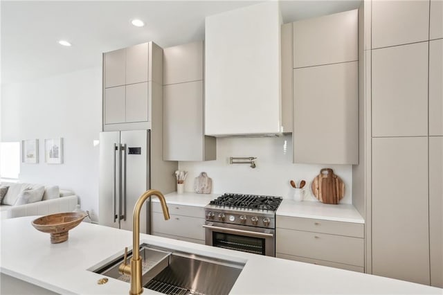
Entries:
{"type": "Polygon", "coordinates": [[[363,272],[364,225],[277,215],[275,256],[363,272]]]}

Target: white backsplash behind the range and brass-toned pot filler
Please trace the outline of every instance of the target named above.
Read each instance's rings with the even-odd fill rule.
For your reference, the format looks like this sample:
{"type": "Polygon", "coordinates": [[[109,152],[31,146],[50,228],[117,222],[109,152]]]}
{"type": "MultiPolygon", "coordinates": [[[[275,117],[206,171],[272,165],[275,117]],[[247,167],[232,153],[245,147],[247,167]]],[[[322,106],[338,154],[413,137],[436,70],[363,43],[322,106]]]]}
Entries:
{"type": "Polygon", "coordinates": [[[305,200],[316,201],[311,182],[321,168],[332,168],[345,183],[345,196],[340,203],[352,204],[352,166],[292,163],[292,138],[217,138],[217,160],[206,162],[180,161],[179,169],[188,171],[185,191],[194,191],[194,180],[200,172],[213,179],[212,193],[245,193],[276,195],[291,199],[293,179],[299,186],[305,179],[305,200]],[[229,157],[257,157],[256,168],[248,164],[229,164],[229,157]]]}

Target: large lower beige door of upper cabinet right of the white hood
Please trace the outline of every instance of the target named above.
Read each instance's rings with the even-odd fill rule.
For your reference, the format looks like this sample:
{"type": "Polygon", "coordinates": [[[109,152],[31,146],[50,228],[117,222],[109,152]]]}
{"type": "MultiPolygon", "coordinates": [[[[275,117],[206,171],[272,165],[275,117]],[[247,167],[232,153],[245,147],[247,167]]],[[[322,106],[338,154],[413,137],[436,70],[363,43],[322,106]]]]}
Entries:
{"type": "Polygon", "coordinates": [[[295,163],[358,163],[357,62],[294,69],[293,92],[295,163]]]}

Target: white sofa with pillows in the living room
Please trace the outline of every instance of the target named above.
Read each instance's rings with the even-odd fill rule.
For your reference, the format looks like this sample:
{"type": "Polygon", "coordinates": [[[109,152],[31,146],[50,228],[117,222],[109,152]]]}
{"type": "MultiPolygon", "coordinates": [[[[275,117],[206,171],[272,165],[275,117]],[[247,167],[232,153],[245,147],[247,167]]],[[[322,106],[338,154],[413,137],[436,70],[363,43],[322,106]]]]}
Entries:
{"type": "Polygon", "coordinates": [[[58,186],[1,182],[0,190],[6,186],[8,189],[0,205],[1,220],[70,212],[74,211],[78,204],[78,196],[75,193],[71,190],[60,190],[58,186]]]}

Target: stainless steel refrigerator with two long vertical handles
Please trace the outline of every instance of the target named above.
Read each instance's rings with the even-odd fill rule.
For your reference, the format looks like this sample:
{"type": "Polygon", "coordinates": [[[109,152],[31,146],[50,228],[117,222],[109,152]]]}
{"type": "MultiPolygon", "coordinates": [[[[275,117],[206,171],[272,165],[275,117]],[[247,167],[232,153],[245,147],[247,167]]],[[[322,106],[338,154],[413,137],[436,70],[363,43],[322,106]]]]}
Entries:
{"type": "MultiPolygon", "coordinates": [[[[134,205],[150,188],[150,131],[101,132],[99,179],[99,224],[132,231],[134,205]]],[[[141,233],[150,231],[149,211],[145,202],[141,233]]]]}

